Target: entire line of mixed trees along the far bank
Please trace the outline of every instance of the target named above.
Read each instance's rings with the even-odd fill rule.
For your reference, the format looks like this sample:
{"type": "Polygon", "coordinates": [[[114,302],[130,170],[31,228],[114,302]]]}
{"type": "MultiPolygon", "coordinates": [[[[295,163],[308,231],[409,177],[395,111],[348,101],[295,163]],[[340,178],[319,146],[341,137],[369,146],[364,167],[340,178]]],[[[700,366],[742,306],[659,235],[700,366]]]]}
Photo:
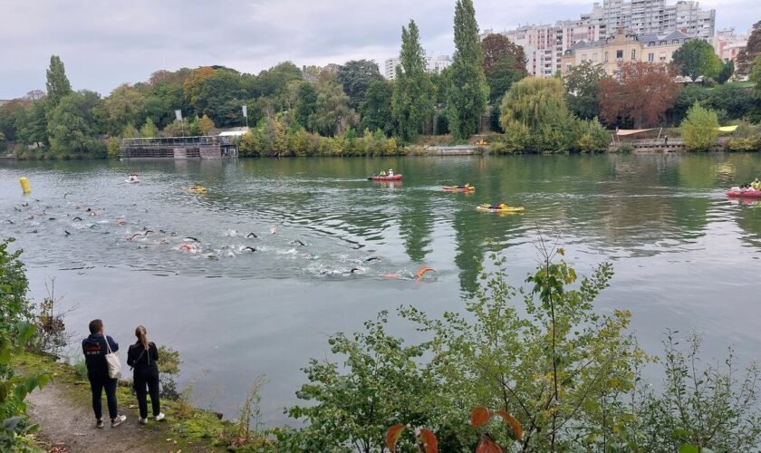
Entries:
{"type": "MultiPolygon", "coordinates": [[[[241,151],[249,156],[382,154],[421,135],[461,142],[484,130],[502,134],[497,151],[595,151],[607,147],[606,129],[679,125],[696,102],[720,123],[761,118],[758,88],[725,83],[734,64],[721,63],[701,40],[683,44],[670,64],[621,63],[612,77],[586,62],[563,78],[537,80],[528,77],[522,47],[501,34],[481,39],[472,0],[457,1],[454,32],[451,66],[429,73],[418,25],[402,26],[393,81],[368,60],[302,68],[284,62],[258,74],[205,66],[160,70],[101,97],[73,91],[53,55],[46,92],[0,107],[0,150],[14,144],[20,158],[101,158],[117,155],[123,138],[243,126],[244,106],[253,127],[241,151]],[[693,83],[682,86],[679,74],[693,83]],[[176,120],[177,110],[185,120],[176,120]]],[[[752,82],[761,81],[759,53],[761,22],[738,57],[738,74],[752,82]]]]}

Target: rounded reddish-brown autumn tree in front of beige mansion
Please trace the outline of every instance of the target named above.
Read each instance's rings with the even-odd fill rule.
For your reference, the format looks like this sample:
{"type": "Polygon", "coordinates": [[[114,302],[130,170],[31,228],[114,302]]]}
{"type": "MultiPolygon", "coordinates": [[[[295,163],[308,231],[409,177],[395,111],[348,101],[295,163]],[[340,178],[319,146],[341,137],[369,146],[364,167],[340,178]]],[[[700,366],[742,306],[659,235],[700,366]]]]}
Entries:
{"type": "Polygon", "coordinates": [[[656,126],[679,96],[674,68],[660,63],[621,63],[615,77],[600,81],[600,114],[608,124],[656,126]]]}

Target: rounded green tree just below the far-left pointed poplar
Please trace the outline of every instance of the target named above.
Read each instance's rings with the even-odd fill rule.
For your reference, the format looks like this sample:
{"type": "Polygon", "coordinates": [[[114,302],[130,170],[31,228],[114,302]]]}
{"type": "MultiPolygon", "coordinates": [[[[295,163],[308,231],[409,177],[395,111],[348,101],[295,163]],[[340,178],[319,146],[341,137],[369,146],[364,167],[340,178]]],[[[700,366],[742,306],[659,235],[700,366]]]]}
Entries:
{"type": "Polygon", "coordinates": [[[97,92],[72,92],[48,112],[48,137],[56,157],[103,158],[105,145],[98,140],[95,110],[101,102],[97,92]]]}

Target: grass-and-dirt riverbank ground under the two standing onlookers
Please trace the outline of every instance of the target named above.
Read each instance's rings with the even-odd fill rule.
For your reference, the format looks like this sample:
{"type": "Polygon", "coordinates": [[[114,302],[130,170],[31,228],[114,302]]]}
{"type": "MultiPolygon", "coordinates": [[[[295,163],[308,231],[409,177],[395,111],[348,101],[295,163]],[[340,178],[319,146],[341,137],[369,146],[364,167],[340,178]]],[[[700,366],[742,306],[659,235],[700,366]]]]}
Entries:
{"type": "Polygon", "coordinates": [[[268,443],[260,435],[246,441],[235,423],[183,400],[162,399],[161,410],[167,418],[141,425],[137,400],[127,381],[120,381],[117,389],[119,410],[127,420],[118,429],[96,429],[89,382],[75,367],[34,352],[15,357],[13,366],[21,374],[46,372],[53,376],[43,390],[34,390],[28,397],[29,418],[40,425],[34,439],[37,447],[46,451],[95,451],[104,445],[111,452],[246,451],[268,443]]]}

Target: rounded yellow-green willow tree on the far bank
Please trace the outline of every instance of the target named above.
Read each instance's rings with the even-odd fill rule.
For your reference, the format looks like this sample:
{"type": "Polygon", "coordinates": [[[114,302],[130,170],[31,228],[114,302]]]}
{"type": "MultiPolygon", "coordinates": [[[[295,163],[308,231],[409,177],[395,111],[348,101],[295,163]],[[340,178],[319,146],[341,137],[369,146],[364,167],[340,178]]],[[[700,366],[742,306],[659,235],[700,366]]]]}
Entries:
{"type": "Polygon", "coordinates": [[[517,82],[502,99],[500,124],[503,129],[517,121],[531,129],[563,120],[567,114],[563,82],[553,78],[528,77],[517,82]]]}

